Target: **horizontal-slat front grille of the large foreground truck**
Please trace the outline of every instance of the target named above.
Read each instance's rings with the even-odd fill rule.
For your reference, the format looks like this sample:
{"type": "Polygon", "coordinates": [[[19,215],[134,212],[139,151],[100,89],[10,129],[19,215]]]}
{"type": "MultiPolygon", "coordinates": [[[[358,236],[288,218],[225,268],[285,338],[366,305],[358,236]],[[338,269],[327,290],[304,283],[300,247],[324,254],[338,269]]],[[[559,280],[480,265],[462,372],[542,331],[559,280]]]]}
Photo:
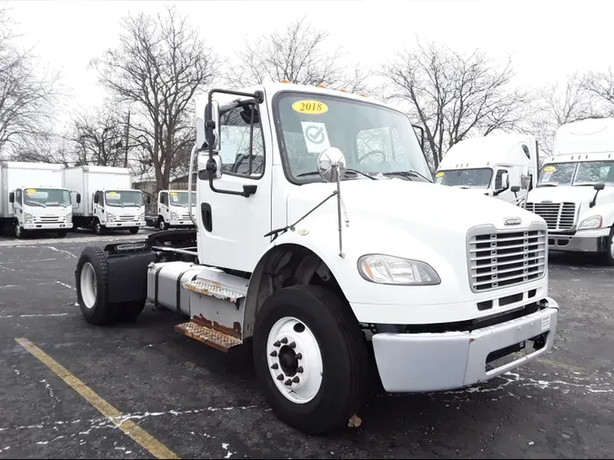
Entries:
{"type": "Polygon", "coordinates": [[[473,292],[520,285],[543,276],[547,263],[546,234],[546,230],[527,230],[471,235],[468,256],[473,292]]]}

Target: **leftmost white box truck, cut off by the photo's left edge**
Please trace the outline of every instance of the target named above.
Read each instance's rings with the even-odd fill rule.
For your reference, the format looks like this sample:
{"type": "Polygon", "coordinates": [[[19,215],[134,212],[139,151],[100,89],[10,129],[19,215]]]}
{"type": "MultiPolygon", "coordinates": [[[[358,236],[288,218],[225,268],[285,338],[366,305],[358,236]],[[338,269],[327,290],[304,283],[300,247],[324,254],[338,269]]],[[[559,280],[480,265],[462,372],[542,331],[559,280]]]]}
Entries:
{"type": "Polygon", "coordinates": [[[0,229],[12,227],[17,238],[43,232],[65,237],[73,224],[63,168],[46,163],[0,163],[0,229]]]}

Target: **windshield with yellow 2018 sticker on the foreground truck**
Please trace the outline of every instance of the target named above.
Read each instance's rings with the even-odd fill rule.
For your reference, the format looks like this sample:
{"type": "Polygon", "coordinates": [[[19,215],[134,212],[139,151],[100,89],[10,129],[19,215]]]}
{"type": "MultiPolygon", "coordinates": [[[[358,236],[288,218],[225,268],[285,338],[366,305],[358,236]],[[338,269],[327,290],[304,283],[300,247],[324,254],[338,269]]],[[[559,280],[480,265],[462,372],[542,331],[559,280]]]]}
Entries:
{"type": "MultiPolygon", "coordinates": [[[[273,102],[284,169],[293,183],[321,182],[317,155],[335,146],[347,169],[366,175],[432,182],[418,137],[407,115],[333,95],[287,92],[273,102]]],[[[348,172],[344,179],[366,179],[348,172]]]]}

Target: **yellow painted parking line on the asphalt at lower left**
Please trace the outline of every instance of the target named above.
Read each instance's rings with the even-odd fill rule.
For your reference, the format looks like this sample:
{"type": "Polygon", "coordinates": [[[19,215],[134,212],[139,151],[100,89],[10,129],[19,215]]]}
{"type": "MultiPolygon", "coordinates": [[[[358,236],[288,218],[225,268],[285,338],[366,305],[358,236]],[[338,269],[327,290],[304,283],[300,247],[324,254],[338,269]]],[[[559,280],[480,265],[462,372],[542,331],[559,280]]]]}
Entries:
{"type": "Polygon", "coordinates": [[[19,345],[22,345],[44,365],[49,367],[49,369],[64,380],[67,385],[71,386],[75,392],[82,395],[89,404],[96,407],[102,415],[105,415],[114,425],[135,440],[136,443],[142,445],[151,455],[154,455],[156,458],[179,458],[174,452],[169,450],[166,445],[163,445],[156,440],[155,437],[149,435],[143,428],[135,425],[130,420],[123,420],[122,413],[113,405],[108,404],[103,398],[96,395],[91,388],[76,378],[75,375],[68,372],[64,366],[58,364],[54,358],[45,354],[43,350],[28,339],[15,338],[15,341],[19,345]]]}

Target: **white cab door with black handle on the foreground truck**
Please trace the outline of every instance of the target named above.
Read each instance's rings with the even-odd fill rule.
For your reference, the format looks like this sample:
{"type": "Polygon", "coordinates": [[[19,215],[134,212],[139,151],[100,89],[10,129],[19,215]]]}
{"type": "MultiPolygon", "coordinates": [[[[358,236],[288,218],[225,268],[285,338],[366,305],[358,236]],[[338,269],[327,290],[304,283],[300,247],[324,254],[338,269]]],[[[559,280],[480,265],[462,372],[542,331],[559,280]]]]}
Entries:
{"type": "Polygon", "coordinates": [[[206,176],[207,154],[203,152],[198,161],[196,214],[200,263],[252,272],[271,241],[264,235],[271,230],[273,154],[267,116],[255,110],[250,161],[249,112],[249,108],[237,106],[221,116],[222,177],[214,185],[217,190],[236,192],[252,185],[256,193],[245,197],[214,192],[206,176]]]}

